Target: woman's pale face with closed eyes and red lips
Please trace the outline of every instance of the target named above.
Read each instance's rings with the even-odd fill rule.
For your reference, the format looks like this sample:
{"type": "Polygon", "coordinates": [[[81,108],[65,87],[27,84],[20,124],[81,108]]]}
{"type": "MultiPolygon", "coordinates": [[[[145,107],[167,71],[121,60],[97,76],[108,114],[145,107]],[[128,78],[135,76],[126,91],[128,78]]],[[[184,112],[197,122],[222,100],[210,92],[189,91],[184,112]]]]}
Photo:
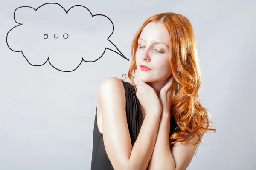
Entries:
{"type": "Polygon", "coordinates": [[[170,36],[162,23],[148,23],[140,34],[136,51],[137,74],[143,82],[166,80],[171,74],[170,36]],[[141,66],[147,66],[145,70],[141,66]]]}

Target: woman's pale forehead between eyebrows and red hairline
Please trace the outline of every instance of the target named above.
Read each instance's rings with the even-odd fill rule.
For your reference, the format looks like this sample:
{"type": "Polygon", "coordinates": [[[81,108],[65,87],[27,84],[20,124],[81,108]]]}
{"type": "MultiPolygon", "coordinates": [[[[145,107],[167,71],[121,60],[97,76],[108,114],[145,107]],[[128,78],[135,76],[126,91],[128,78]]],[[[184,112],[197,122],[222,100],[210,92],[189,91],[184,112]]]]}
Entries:
{"type": "Polygon", "coordinates": [[[140,38],[143,38],[146,42],[160,41],[166,44],[169,44],[170,42],[170,35],[163,23],[148,23],[143,28],[140,38]]]}

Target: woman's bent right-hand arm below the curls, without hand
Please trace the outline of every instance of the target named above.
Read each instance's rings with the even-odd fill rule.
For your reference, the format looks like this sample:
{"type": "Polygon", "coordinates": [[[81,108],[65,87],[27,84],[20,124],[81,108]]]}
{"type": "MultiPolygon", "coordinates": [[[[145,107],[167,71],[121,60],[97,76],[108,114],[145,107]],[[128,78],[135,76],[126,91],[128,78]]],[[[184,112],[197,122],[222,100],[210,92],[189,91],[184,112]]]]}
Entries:
{"type": "MultiPolygon", "coordinates": [[[[207,117],[210,121],[209,113],[207,117]]],[[[205,119],[205,122],[207,119],[205,119]]],[[[170,150],[169,147],[169,132],[170,132],[170,116],[163,113],[160,119],[157,140],[151,160],[148,164],[148,170],[186,170],[194,156],[198,146],[189,146],[186,143],[175,143],[170,150]]],[[[196,141],[198,136],[195,136],[192,141],[196,141]]]]}

